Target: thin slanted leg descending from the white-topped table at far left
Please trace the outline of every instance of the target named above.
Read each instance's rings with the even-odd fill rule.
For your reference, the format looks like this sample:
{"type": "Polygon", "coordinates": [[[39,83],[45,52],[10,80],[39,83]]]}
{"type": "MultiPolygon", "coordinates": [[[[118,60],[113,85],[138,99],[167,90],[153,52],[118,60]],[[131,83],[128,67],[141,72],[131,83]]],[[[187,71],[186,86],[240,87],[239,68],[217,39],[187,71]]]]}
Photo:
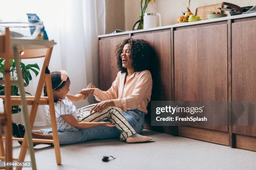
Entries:
{"type": "Polygon", "coordinates": [[[26,96],[25,96],[24,80],[23,80],[23,76],[22,76],[21,68],[20,68],[18,49],[16,47],[13,48],[13,56],[14,56],[14,60],[15,60],[17,75],[18,75],[19,90],[20,90],[20,97],[21,97],[21,104],[22,104],[22,111],[23,111],[23,119],[24,119],[25,127],[26,127],[26,135],[28,137],[27,140],[28,140],[28,148],[29,148],[29,153],[30,153],[30,158],[31,158],[31,165],[32,165],[32,169],[36,170],[36,159],[35,159],[31,127],[30,127],[29,116],[28,116],[28,106],[27,106],[27,101],[26,101],[26,96]]]}

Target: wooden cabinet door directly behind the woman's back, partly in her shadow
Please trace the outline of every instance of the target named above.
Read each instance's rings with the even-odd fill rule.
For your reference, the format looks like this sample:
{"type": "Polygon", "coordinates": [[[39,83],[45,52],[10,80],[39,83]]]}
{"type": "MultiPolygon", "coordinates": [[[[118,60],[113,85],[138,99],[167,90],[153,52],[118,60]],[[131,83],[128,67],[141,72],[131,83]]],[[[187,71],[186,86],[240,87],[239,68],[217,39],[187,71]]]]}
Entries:
{"type": "MultiPolygon", "coordinates": [[[[152,48],[154,57],[154,69],[151,71],[153,79],[153,88],[151,101],[171,101],[171,32],[166,30],[164,32],[154,32],[132,36],[133,39],[143,39],[152,48]]],[[[148,114],[145,117],[145,128],[156,130],[165,133],[173,133],[170,127],[151,127],[151,103],[149,103],[148,114]]]]}

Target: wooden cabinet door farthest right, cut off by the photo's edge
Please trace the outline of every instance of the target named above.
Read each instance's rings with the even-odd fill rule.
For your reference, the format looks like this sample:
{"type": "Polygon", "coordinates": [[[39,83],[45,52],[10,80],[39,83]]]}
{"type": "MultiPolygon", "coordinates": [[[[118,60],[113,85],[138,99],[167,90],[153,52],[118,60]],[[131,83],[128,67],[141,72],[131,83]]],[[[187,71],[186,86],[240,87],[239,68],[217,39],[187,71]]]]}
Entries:
{"type": "Polygon", "coordinates": [[[232,23],[232,132],[249,136],[256,136],[255,47],[256,20],[232,23]]]}

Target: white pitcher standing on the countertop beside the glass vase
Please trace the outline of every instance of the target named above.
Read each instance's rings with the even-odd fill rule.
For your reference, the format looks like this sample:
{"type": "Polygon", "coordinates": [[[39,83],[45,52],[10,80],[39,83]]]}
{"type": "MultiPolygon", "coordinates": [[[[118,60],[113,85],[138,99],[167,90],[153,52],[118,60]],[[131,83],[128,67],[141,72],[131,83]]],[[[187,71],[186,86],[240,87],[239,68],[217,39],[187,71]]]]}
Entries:
{"type": "Polygon", "coordinates": [[[154,28],[161,26],[160,13],[144,13],[143,15],[143,29],[154,28]]]}

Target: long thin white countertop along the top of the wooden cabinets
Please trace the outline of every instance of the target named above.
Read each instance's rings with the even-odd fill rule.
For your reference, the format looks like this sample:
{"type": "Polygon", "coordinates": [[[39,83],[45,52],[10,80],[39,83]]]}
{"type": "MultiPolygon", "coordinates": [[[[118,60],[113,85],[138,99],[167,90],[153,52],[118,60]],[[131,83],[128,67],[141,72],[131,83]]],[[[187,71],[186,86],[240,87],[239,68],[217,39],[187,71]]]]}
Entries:
{"type": "Polygon", "coordinates": [[[115,35],[125,35],[125,34],[136,33],[136,32],[163,30],[163,29],[167,29],[167,28],[176,28],[176,27],[184,27],[184,26],[188,26],[188,25],[214,23],[214,22],[218,22],[218,21],[234,20],[234,19],[238,19],[238,18],[247,18],[247,17],[253,17],[253,16],[256,16],[256,12],[241,14],[241,15],[233,15],[233,16],[222,17],[222,18],[215,18],[215,19],[210,19],[210,20],[201,20],[201,21],[195,21],[195,22],[190,22],[190,23],[187,22],[187,23],[179,23],[179,24],[174,24],[174,25],[166,25],[166,26],[162,26],[162,27],[148,28],[148,29],[143,29],[143,30],[134,30],[134,31],[125,31],[125,32],[119,32],[119,33],[98,35],[98,37],[99,38],[100,37],[110,37],[110,36],[115,36],[115,35]]]}

